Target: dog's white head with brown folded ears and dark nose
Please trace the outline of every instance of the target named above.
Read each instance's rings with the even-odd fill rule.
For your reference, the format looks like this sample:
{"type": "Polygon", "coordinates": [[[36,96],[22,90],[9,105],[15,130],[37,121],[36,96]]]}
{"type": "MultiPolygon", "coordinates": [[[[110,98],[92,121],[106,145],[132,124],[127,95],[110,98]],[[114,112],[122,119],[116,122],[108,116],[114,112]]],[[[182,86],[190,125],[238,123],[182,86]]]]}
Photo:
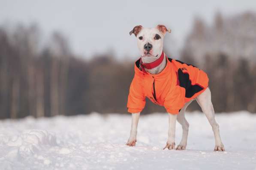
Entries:
{"type": "Polygon", "coordinates": [[[171,29],[167,29],[164,25],[157,25],[154,28],[144,28],[137,25],[130,31],[130,35],[136,36],[142,58],[157,59],[162,54],[163,38],[166,32],[171,33],[171,29]]]}

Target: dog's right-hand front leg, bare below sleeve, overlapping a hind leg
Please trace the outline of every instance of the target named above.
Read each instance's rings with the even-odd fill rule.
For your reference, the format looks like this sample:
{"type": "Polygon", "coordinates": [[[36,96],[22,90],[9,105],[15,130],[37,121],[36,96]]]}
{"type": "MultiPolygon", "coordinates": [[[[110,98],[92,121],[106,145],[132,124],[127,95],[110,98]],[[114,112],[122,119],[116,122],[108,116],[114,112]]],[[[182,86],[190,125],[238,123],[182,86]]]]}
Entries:
{"type": "Polygon", "coordinates": [[[169,150],[175,149],[175,129],[176,129],[176,114],[169,113],[169,130],[168,130],[168,140],[166,146],[163,149],[168,148],[169,150]]]}

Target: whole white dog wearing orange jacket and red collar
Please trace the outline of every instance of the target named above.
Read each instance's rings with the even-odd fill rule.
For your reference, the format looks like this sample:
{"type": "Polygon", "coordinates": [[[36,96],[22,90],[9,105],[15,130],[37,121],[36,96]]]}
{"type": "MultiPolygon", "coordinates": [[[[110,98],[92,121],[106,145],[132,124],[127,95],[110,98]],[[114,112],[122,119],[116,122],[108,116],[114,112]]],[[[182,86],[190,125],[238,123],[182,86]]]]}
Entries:
{"type": "Polygon", "coordinates": [[[167,32],[171,33],[171,30],[164,25],[154,28],[138,25],[130,31],[130,35],[136,36],[141,57],[135,63],[135,75],[128,95],[127,108],[132,113],[132,126],[126,145],[136,145],[139,116],[145,107],[145,97],[148,97],[155,104],[164,106],[169,113],[168,140],[163,149],[186,149],[189,123],[184,114],[188,105],[196,100],[214,132],[214,151],[225,151],[214,117],[208,76],[195,66],[166,57],[163,39],[167,32]],[[183,133],[175,148],[176,120],[181,124],[183,133]]]}

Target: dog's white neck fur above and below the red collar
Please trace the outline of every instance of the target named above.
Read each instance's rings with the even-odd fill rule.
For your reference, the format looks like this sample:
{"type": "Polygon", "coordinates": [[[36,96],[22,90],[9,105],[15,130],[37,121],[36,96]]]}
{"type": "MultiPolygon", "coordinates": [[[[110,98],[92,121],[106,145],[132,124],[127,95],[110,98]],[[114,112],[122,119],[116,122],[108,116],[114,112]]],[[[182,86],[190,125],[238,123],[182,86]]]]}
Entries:
{"type": "MultiPolygon", "coordinates": [[[[154,61],[158,60],[159,58],[156,59],[156,57],[142,57],[142,63],[153,63],[154,61]]],[[[162,72],[162,70],[166,67],[166,55],[163,52],[163,61],[156,67],[152,68],[152,69],[147,69],[144,67],[146,72],[149,72],[152,75],[157,75],[160,72],[162,72]]]]}

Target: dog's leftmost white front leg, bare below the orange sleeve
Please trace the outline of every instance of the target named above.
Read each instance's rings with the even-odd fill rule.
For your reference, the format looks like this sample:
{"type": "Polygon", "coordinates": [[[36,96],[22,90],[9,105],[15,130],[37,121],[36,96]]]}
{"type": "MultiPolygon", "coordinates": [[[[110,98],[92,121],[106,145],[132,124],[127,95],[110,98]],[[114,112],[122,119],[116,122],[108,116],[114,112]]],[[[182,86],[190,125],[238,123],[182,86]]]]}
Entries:
{"type": "Polygon", "coordinates": [[[128,139],[128,142],[126,145],[128,146],[135,146],[137,142],[137,127],[138,127],[138,122],[139,122],[139,113],[132,113],[132,127],[131,127],[131,133],[130,137],[128,139]]]}

